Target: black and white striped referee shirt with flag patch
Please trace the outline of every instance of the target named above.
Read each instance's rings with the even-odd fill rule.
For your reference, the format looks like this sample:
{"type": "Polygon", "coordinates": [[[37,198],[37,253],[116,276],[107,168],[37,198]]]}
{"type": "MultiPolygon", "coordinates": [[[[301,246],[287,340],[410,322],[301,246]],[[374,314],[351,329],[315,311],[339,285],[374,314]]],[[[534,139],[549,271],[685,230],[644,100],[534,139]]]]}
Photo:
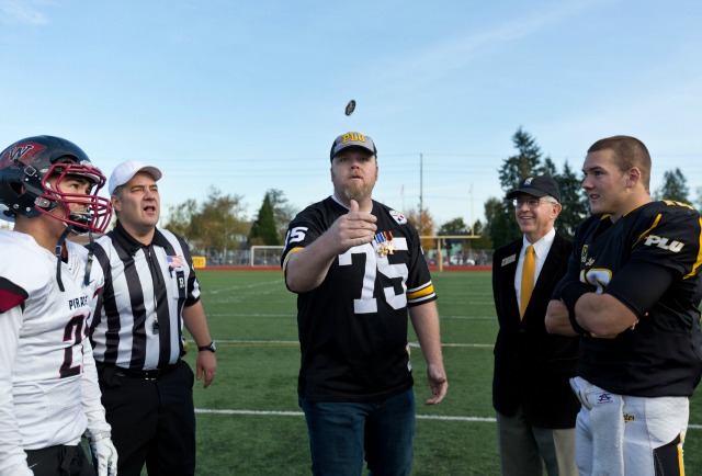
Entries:
{"type": "Polygon", "coordinates": [[[185,240],[156,229],[150,245],[116,227],[95,240],[105,286],[91,321],[97,362],[132,370],[176,363],[183,340],[183,307],[200,299],[185,240]]]}

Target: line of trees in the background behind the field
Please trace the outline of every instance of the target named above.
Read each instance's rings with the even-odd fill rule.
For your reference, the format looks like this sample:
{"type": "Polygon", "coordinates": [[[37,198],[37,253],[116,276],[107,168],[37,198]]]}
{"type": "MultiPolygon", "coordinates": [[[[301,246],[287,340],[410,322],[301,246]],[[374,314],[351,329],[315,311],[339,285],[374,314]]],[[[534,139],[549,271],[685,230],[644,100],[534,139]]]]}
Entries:
{"type": "MultiPolygon", "coordinates": [[[[544,157],[534,137],[519,127],[512,136],[514,155],[506,158],[497,170],[500,181],[500,196],[489,197],[485,206],[485,223],[476,220],[472,225],[456,217],[437,226],[429,209],[419,206],[403,211],[415,226],[421,224],[421,236],[463,235],[472,236],[473,249],[499,248],[521,236],[514,220],[514,207],[505,196],[519,186],[519,183],[533,175],[547,173],[554,178],[561,189],[563,211],[556,220],[556,229],[571,238],[577,225],[589,213],[587,196],[582,190],[582,174],[579,163],[571,168],[568,161],[558,170],[550,157],[544,157]],[[420,219],[421,218],[421,219],[420,219]],[[477,238],[475,238],[477,236],[477,238]]],[[[702,204],[702,188],[698,189],[698,204],[702,204]]],[[[654,200],[676,200],[691,203],[687,179],[680,169],[664,173],[660,189],[652,194],[654,200]]],[[[223,194],[211,189],[204,202],[189,199],[170,207],[165,227],[180,234],[200,250],[235,250],[253,245],[283,245],[287,224],[295,216],[294,208],[283,191],[270,189],[253,220],[246,216],[244,197],[236,194],[223,194]]],[[[422,241],[424,250],[437,247],[435,240],[422,241]]]]}

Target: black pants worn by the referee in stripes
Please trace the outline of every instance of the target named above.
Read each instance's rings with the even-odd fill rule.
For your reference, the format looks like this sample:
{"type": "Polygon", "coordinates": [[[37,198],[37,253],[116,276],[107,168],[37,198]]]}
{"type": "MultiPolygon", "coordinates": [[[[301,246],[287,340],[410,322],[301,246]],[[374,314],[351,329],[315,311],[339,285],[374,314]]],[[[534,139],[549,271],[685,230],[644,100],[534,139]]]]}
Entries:
{"type": "Polygon", "coordinates": [[[112,426],[120,476],[195,474],[194,375],[179,360],[167,373],[147,378],[98,364],[102,405],[112,426]]]}

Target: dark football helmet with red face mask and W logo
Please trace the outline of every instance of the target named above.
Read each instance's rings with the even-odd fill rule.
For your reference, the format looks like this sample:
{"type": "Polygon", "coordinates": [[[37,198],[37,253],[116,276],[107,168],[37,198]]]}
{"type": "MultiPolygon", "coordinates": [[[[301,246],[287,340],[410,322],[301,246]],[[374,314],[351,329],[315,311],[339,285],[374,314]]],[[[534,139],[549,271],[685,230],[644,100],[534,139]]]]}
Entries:
{"type": "Polygon", "coordinates": [[[76,233],[103,233],[112,218],[110,200],[98,195],[104,184],[105,177],[86,152],[58,137],[19,140],[0,155],[0,203],[8,208],[2,212],[4,219],[43,214],[72,225],[76,233]],[[61,183],[73,177],[92,184],[88,193],[63,190],[61,183]]]}

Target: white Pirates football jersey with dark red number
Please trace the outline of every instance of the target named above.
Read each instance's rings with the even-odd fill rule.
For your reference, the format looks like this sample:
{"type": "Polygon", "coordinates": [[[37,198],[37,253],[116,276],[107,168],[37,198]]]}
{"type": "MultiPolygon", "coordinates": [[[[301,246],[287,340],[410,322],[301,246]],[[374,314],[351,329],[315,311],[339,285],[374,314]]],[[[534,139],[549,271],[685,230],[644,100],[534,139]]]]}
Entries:
{"type": "Polygon", "coordinates": [[[29,235],[0,230],[0,475],[23,450],[77,444],[110,432],[86,337],[103,285],[99,267],[84,284],[88,251],[66,241],[61,292],[56,257],[29,235]]]}

